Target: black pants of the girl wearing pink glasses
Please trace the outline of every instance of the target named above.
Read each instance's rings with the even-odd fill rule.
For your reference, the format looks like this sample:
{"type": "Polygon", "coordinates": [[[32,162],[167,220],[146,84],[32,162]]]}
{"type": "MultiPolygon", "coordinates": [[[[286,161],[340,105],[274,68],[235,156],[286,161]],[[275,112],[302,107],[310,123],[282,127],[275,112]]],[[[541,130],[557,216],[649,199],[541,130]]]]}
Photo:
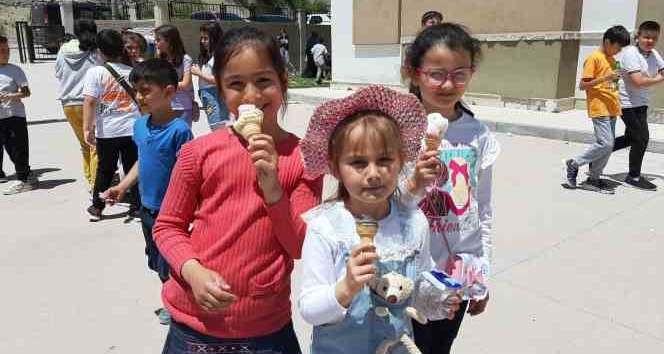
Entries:
{"type": "Polygon", "coordinates": [[[468,308],[468,301],[461,303],[459,311],[451,321],[429,321],[425,325],[413,321],[415,344],[420,348],[422,354],[450,353],[452,343],[459,333],[459,327],[461,327],[461,321],[463,321],[466,308],[468,308]]]}

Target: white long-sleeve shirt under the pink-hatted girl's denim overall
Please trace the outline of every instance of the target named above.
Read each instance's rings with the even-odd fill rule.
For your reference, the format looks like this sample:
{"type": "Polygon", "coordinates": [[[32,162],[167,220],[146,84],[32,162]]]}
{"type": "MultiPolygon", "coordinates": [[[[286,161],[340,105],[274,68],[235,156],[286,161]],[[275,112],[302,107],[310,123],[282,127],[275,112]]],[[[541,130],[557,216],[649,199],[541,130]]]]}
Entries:
{"type": "MultiPolygon", "coordinates": [[[[300,315],[314,326],[340,322],[348,309],[337,301],[335,285],[346,275],[347,256],[360,244],[355,218],[340,201],[325,203],[303,218],[307,234],[302,248],[300,315]]],[[[381,261],[399,259],[418,250],[418,274],[434,266],[428,223],[418,209],[392,201],[390,214],[378,221],[374,244],[381,261]],[[406,223],[409,235],[402,234],[402,223],[406,223]]]]}

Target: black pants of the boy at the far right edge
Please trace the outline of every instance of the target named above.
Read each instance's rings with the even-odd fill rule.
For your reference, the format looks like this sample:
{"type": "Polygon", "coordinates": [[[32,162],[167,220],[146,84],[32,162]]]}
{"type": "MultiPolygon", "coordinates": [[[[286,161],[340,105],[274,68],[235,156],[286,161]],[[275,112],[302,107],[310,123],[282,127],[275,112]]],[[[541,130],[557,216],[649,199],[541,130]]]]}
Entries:
{"type": "Polygon", "coordinates": [[[629,176],[641,176],[643,156],[648,148],[650,132],[648,131],[648,106],[623,108],[622,117],[625,123],[625,135],[617,137],[613,151],[631,146],[629,150],[629,176]]]}

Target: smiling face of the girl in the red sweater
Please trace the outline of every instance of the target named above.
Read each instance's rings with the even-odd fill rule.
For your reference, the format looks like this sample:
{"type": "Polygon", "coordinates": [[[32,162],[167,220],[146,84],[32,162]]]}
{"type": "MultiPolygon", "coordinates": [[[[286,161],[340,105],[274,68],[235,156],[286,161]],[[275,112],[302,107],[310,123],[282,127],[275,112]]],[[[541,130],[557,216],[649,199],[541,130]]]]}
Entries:
{"type": "Polygon", "coordinates": [[[238,116],[238,107],[253,104],[263,111],[265,124],[277,124],[284,103],[287,77],[280,77],[267,52],[253,45],[241,47],[223,66],[220,95],[238,116]]]}

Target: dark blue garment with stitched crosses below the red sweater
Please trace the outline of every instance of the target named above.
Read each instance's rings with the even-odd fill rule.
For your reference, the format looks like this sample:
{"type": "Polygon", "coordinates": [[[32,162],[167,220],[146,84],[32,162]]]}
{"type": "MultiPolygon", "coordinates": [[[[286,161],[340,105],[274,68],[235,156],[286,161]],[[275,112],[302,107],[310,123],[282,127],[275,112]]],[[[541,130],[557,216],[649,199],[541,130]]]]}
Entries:
{"type": "Polygon", "coordinates": [[[300,345],[288,323],[281,330],[262,337],[222,339],[199,333],[183,324],[171,322],[162,354],[301,354],[300,345]]]}

